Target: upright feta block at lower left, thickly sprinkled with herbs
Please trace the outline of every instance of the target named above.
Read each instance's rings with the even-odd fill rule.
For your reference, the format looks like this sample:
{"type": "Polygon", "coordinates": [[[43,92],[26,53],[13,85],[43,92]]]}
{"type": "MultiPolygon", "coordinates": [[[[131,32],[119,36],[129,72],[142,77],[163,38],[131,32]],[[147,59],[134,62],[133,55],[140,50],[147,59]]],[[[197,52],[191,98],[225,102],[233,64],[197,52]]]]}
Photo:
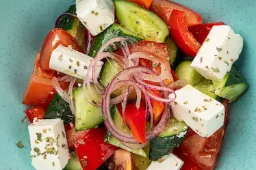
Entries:
{"type": "Polygon", "coordinates": [[[70,158],[62,119],[36,120],[29,125],[32,165],[36,170],[62,170],[70,158]]]}

